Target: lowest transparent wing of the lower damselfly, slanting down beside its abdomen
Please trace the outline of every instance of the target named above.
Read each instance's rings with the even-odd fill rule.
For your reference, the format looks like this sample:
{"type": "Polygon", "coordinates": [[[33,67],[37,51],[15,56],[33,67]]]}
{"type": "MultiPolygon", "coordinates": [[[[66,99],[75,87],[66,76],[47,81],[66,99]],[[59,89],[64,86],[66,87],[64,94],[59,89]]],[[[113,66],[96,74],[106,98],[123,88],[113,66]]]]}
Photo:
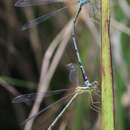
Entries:
{"type": "Polygon", "coordinates": [[[27,119],[23,122],[23,124],[26,124],[29,120],[38,117],[38,116],[39,116],[40,114],[42,114],[43,112],[45,112],[45,111],[47,111],[48,109],[52,108],[54,105],[60,103],[61,101],[63,101],[63,100],[65,100],[65,99],[67,99],[67,98],[73,96],[74,94],[75,94],[75,92],[72,93],[72,94],[69,94],[69,95],[67,95],[67,96],[65,96],[65,97],[63,97],[63,98],[61,98],[61,99],[59,99],[58,101],[56,101],[56,102],[53,103],[53,104],[48,105],[46,108],[42,109],[42,110],[39,111],[38,113],[36,113],[36,114],[34,114],[33,116],[27,118],[27,119]]]}

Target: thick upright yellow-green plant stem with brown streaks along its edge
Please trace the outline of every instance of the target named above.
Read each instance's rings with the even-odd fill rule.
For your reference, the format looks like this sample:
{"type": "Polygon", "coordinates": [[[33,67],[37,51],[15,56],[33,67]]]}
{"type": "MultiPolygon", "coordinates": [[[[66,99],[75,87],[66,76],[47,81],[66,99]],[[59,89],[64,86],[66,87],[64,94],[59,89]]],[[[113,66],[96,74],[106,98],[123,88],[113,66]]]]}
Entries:
{"type": "Polygon", "coordinates": [[[101,130],[114,130],[114,91],[110,45],[110,0],[102,0],[102,43],[101,43],[101,75],[102,75],[102,113],[101,130]]]}

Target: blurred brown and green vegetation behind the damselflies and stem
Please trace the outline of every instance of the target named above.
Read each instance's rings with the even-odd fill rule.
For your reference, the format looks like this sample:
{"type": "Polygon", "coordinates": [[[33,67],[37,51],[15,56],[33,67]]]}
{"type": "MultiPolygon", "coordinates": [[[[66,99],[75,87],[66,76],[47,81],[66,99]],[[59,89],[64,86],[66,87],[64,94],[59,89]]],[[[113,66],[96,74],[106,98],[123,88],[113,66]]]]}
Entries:
{"type": "MultiPolygon", "coordinates": [[[[70,21],[76,6],[69,6],[67,10],[31,29],[21,30],[22,25],[29,20],[68,5],[67,1],[63,4],[27,8],[14,7],[16,0],[0,1],[0,129],[24,129],[21,123],[34,107],[34,102],[12,104],[11,100],[14,97],[36,92],[38,89],[47,91],[76,87],[69,81],[69,72],[66,69],[68,63],[77,63],[71,39],[70,21]]],[[[116,130],[130,129],[129,12],[130,0],[111,1],[110,34],[116,130]]],[[[97,17],[96,22],[91,20],[86,7],[79,19],[76,39],[83,65],[89,80],[97,80],[100,83],[100,20],[97,17]]],[[[82,84],[81,74],[79,80],[82,84]]],[[[40,102],[39,109],[66,94],[65,92],[44,99],[44,102],[40,102]]],[[[58,105],[62,108],[64,104],[63,101],[58,105]]],[[[57,109],[54,107],[49,113],[41,114],[35,119],[32,129],[46,129],[59,112],[57,109]]],[[[90,109],[87,97],[83,95],[62,116],[54,129],[95,130],[99,125],[99,115],[90,109]]]]}

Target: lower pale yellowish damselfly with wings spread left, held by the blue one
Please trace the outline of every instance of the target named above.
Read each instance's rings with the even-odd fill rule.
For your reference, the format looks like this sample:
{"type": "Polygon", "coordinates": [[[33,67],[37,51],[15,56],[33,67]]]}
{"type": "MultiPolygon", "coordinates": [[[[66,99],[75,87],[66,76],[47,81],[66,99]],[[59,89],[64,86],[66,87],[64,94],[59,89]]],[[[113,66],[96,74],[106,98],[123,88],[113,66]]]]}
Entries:
{"type": "MultiPolygon", "coordinates": [[[[73,76],[73,74],[77,71],[76,70],[76,65],[75,64],[71,64],[71,66],[69,65],[69,67],[71,67],[71,71],[70,71],[70,78],[72,79],[71,76],[73,76]]],[[[77,79],[77,72],[75,73],[75,79],[77,79]]],[[[78,83],[78,82],[77,82],[78,83]]],[[[97,93],[97,81],[94,81],[92,83],[89,83],[88,86],[86,86],[86,84],[84,83],[83,85],[78,85],[76,88],[71,88],[71,89],[62,89],[62,90],[55,90],[52,91],[52,95],[61,93],[61,92],[67,92],[70,91],[71,94],[68,94],[67,96],[59,99],[58,101],[56,101],[53,104],[50,104],[49,106],[47,106],[46,108],[42,109],[41,111],[39,111],[38,113],[36,113],[35,115],[29,117],[28,119],[26,119],[24,121],[24,123],[27,123],[29,120],[38,117],[41,113],[45,112],[46,110],[48,110],[49,108],[53,107],[54,105],[56,105],[57,103],[63,101],[64,99],[71,97],[70,100],[68,101],[68,103],[65,105],[65,107],[62,109],[62,111],[58,114],[58,116],[54,119],[54,121],[50,124],[50,126],[48,127],[48,130],[51,130],[52,127],[56,124],[56,122],[59,120],[59,118],[63,115],[63,113],[65,112],[65,110],[70,106],[70,104],[73,102],[74,99],[76,99],[76,97],[78,95],[81,95],[83,93],[88,93],[90,96],[90,100],[91,100],[91,105],[94,106],[94,102],[93,102],[93,97],[92,94],[93,93],[97,93]]],[[[42,94],[42,93],[31,93],[31,94],[25,94],[25,95],[21,95],[18,96],[16,98],[14,98],[12,100],[13,103],[21,103],[21,102],[26,102],[26,101],[30,101],[33,100],[37,94],[42,94]]],[[[46,94],[46,96],[50,96],[51,92],[48,92],[46,94]]],[[[95,106],[94,106],[95,107],[95,106]]],[[[95,108],[96,109],[96,108],[95,108]]],[[[98,109],[98,108],[97,108],[98,109]]]]}

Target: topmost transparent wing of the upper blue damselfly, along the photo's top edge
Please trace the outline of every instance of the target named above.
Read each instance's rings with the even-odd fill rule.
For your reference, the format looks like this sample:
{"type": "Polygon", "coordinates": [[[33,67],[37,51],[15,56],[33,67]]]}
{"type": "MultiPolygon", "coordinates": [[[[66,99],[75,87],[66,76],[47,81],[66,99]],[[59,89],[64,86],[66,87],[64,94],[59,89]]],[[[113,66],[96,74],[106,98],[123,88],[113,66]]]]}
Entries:
{"type": "Polygon", "coordinates": [[[16,7],[27,7],[27,6],[37,6],[37,5],[47,5],[51,3],[62,3],[62,2],[71,2],[69,0],[18,0],[15,3],[16,7]]]}

